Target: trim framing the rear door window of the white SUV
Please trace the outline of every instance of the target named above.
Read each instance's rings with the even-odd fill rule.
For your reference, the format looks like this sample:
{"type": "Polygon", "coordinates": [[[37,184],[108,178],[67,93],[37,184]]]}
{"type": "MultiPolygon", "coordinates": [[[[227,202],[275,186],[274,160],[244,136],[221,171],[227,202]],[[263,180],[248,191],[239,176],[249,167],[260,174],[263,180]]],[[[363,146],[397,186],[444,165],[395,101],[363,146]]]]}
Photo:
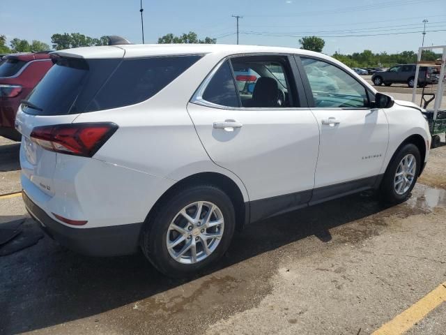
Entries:
{"type": "MultiPolygon", "coordinates": [[[[302,81],[299,81],[298,75],[300,75],[300,71],[298,73],[295,73],[295,70],[298,70],[297,68],[293,67],[293,61],[292,59],[298,56],[298,54],[282,54],[282,53],[269,53],[269,52],[259,52],[259,53],[241,53],[241,54],[231,54],[229,56],[224,57],[221,59],[217,65],[214,66],[212,70],[210,70],[210,73],[206,75],[205,79],[201,84],[199,85],[198,89],[195,91],[195,93],[192,95],[192,98],[190,98],[190,103],[194,103],[196,105],[202,105],[205,107],[211,107],[211,108],[217,108],[220,110],[308,110],[309,106],[307,101],[302,101],[302,97],[305,96],[303,92],[299,94],[299,87],[302,85],[302,81]],[[231,64],[231,59],[233,58],[239,58],[239,57],[286,57],[287,61],[289,62],[289,70],[291,70],[291,80],[294,82],[293,85],[290,85],[290,89],[293,90],[292,96],[295,98],[296,103],[298,103],[299,107],[243,107],[241,100],[240,100],[240,92],[237,89],[236,80],[234,77],[234,71],[231,64]],[[231,66],[231,73],[234,80],[234,88],[236,89],[236,94],[238,96],[238,103],[239,107],[230,107],[230,106],[224,106],[224,105],[218,105],[216,103],[211,103],[210,101],[206,101],[203,99],[203,93],[206,90],[206,87],[208,87],[208,84],[210,80],[213,78],[217,70],[220,69],[220,66],[224,64],[225,61],[229,61],[229,65],[231,66]],[[300,83],[300,84],[299,84],[300,83]],[[307,105],[302,107],[302,105],[307,105]]],[[[304,85],[305,86],[305,85],[304,85]]]]}

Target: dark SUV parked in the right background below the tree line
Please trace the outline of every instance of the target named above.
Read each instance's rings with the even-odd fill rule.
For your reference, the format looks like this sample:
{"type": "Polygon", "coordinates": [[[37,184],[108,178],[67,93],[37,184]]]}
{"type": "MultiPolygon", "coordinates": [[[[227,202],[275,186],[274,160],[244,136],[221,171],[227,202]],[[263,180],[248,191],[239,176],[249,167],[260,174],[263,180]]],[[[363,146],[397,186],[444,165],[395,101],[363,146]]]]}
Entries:
{"type": "MultiPolygon", "coordinates": [[[[427,84],[433,84],[435,76],[432,75],[434,66],[420,66],[418,75],[418,86],[424,87],[427,84]]],[[[408,87],[413,87],[415,82],[415,64],[399,64],[392,66],[385,71],[377,71],[371,76],[371,81],[376,85],[390,86],[394,83],[406,83],[408,87]]]]}

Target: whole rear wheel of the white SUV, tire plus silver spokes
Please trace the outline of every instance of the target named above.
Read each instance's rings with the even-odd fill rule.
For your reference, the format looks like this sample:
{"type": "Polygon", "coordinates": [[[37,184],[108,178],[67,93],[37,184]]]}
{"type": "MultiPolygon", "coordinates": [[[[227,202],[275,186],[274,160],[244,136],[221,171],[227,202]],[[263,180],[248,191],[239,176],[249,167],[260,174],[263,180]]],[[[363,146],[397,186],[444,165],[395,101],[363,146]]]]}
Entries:
{"type": "Polygon", "coordinates": [[[231,199],[220,188],[212,185],[192,186],[179,191],[155,209],[155,213],[151,216],[152,218],[148,218],[144,224],[141,248],[146,258],[158,271],[174,278],[192,276],[221,258],[231,244],[236,226],[236,214],[231,199]],[[201,218],[197,219],[195,216],[199,209],[199,202],[203,204],[201,204],[201,218]],[[216,209],[211,206],[212,204],[216,209]],[[213,212],[210,224],[215,225],[205,228],[203,221],[206,221],[211,207],[213,212]],[[190,220],[201,221],[191,224],[183,214],[180,214],[183,210],[190,220]],[[223,218],[223,223],[216,224],[221,218],[223,218]],[[175,228],[172,229],[172,227],[175,228]],[[183,230],[183,233],[176,229],[183,230]],[[208,237],[209,234],[220,234],[221,237],[212,239],[208,237]],[[205,238],[208,239],[205,240],[205,238]],[[182,241],[168,249],[168,240],[173,243],[182,241]],[[203,243],[206,243],[207,253],[203,243]],[[191,244],[195,246],[192,247],[191,244]],[[195,258],[192,249],[195,250],[195,258]],[[178,256],[181,251],[185,253],[178,256]],[[175,259],[174,256],[177,258],[175,259]]]}

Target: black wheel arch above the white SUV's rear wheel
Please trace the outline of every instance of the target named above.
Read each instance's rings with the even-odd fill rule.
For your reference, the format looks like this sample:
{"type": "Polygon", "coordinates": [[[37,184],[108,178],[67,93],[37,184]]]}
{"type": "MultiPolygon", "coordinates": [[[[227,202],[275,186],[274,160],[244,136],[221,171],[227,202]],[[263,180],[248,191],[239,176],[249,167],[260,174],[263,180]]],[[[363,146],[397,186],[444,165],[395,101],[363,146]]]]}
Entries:
{"type": "Polygon", "coordinates": [[[245,223],[249,222],[249,201],[245,202],[243,193],[230,177],[219,172],[199,172],[192,174],[177,181],[169,187],[160,198],[153,204],[151,210],[146,216],[145,222],[153,216],[153,213],[159,209],[164,202],[167,202],[174,193],[191,186],[213,185],[220,188],[229,196],[236,211],[236,229],[243,230],[245,223]]]}

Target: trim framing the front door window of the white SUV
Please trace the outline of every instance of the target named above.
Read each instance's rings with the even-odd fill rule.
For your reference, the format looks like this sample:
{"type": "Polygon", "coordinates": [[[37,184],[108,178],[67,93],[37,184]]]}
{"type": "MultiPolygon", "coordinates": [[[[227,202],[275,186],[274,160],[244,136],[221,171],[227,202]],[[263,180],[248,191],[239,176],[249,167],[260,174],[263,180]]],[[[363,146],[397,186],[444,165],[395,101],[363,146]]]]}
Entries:
{"type": "Polygon", "coordinates": [[[371,97],[373,97],[373,98],[375,97],[374,92],[371,91],[367,86],[365,86],[364,83],[360,82],[360,80],[358,80],[355,76],[351,75],[351,73],[348,73],[348,71],[345,70],[344,68],[341,68],[340,66],[338,66],[337,64],[335,64],[334,62],[332,62],[328,59],[323,59],[323,58],[314,57],[314,56],[307,56],[304,54],[295,55],[295,60],[296,60],[296,63],[298,64],[299,72],[303,73],[303,75],[301,75],[302,82],[304,84],[305,94],[307,94],[307,101],[308,101],[309,107],[312,110],[373,110],[373,109],[376,109],[374,107],[371,107],[372,102],[373,102],[373,101],[371,101],[371,97]],[[353,80],[355,80],[358,84],[360,84],[364,88],[365,94],[367,96],[367,100],[369,101],[369,106],[367,106],[367,107],[316,107],[316,103],[314,102],[312,87],[309,84],[307,73],[305,72],[305,68],[302,64],[301,58],[308,58],[308,59],[314,59],[316,61],[323,61],[325,63],[332,65],[332,66],[335,66],[336,68],[339,68],[339,70],[344,71],[344,73],[346,73],[347,75],[352,77],[353,80]]]}

